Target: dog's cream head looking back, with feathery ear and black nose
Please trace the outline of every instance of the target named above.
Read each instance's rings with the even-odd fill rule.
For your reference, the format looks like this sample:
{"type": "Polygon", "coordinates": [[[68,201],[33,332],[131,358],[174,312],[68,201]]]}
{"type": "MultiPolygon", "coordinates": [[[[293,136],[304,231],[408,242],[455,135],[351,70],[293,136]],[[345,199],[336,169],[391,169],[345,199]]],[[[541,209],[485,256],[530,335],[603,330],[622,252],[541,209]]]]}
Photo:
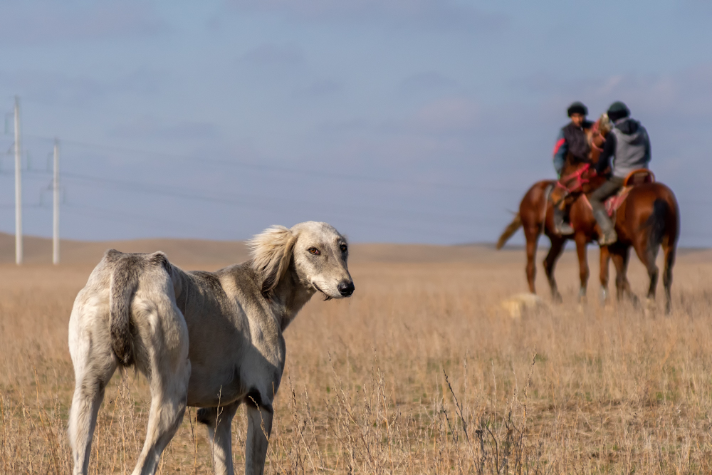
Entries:
{"type": "Polygon", "coordinates": [[[329,224],[307,221],[292,229],[272,226],[255,236],[249,246],[266,297],[290,268],[303,286],[327,299],[349,297],[354,292],[346,263],[348,244],[329,224]]]}

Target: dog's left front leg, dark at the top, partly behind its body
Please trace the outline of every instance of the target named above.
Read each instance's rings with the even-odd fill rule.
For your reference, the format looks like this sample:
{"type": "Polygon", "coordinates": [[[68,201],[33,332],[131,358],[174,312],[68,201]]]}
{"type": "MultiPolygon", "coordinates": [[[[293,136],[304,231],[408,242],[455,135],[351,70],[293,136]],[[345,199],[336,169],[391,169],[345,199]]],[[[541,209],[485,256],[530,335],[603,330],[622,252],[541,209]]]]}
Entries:
{"type": "Polygon", "coordinates": [[[215,475],[234,475],[232,466],[232,419],[240,402],[224,407],[204,407],[197,420],[208,427],[208,440],[213,452],[215,475]]]}

